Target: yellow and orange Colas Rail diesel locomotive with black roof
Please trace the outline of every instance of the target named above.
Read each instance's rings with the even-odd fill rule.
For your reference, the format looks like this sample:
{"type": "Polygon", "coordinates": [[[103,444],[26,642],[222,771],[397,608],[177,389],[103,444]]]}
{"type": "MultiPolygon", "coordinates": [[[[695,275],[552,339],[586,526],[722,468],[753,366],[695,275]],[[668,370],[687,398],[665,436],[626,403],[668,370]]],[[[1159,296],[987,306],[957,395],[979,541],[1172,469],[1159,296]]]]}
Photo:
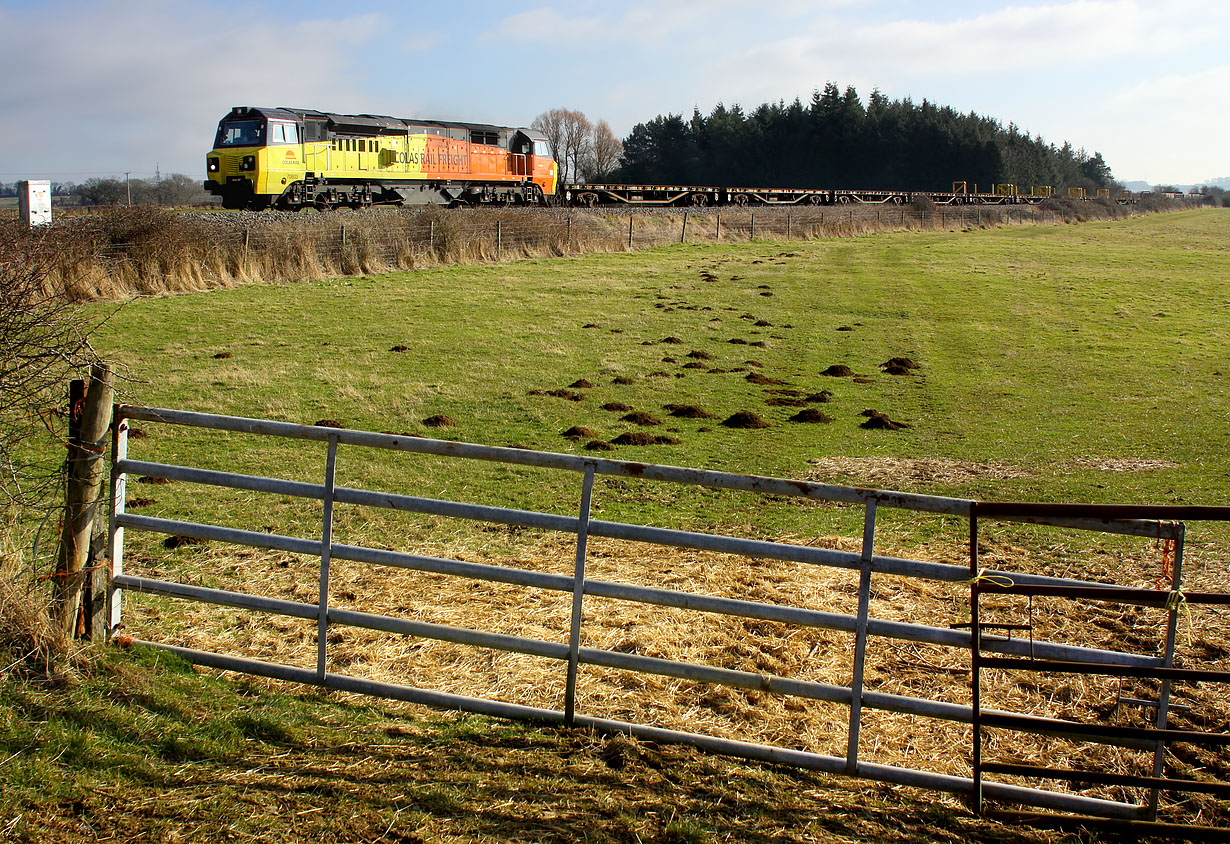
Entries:
{"type": "Polygon", "coordinates": [[[557,167],[534,129],[237,106],[205,156],[224,208],[546,204],[557,167]]]}

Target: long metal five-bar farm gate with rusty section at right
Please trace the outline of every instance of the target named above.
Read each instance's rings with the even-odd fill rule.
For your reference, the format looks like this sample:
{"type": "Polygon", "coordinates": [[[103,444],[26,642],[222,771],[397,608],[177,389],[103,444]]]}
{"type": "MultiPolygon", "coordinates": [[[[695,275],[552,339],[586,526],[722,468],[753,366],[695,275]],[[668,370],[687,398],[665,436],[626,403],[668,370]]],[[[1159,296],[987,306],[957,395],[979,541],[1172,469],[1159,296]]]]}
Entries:
{"type": "MultiPolygon", "coordinates": [[[[974,801],[977,810],[982,808],[983,800],[985,798],[1070,812],[1086,817],[1148,821],[1156,817],[1160,791],[1205,792],[1216,795],[1218,797],[1230,796],[1230,786],[1221,782],[1197,782],[1189,779],[1168,779],[1162,775],[1164,754],[1168,743],[1196,742],[1215,746],[1230,743],[1230,735],[1224,732],[1193,732],[1167,727],[1171,684],[1173,682],[1230,682],[1230,672],[1180,669],[1173,666],[1176,631],[1182,614],[1187,611],[1187,605],[1230,603],[1230,595],[1226,594],[1184,593],[1182,591],[1184,530],[1183,524],[1178,519],[1228,520],[1230,519],[1230,507],[1118,507],[975,502],[962,498],[830,486],[774,477],[736,475],[699,469],[627,463],[549,452],[496,448],[410,436],[300,426],[285,422],[127,405],[118,405],[116,407],[114,420],[114,463],[111,482],[112,511],[108,555],[112,565],[107,609],[108,630],[114,635],[123,626],[122,594],[124,592],[154,593],[258,613],[280,614],[296,619],[312,620],[317,625],[315,671],[166,643],[140,641],[143,645],[162,647],[180,653],[193,663],[298,683],[316,684],[331,689],[412,701],[442,709],[465,710],[510,719],[554,721],[599,731],[620,731],[649,741],[683,742],[705,750],[752,760],[795,765],[829,774],[966,795],[974,801]],[[134,460],[129,458],[128,453],[129,421],[191,426],[221,432],[261,434],[273,438],[320,443],[326,450],[325,476],[319,484],[308,484],[134,460]],[[576,472],[579,480],[578,512],[576,516],[560,516],[536,511],[507,509],[456,501],[339,487],[335,485],[335,468],[338,449],[343,445],[354,449],[391,449],[411,454],[442,455],[460,460],[485,460],[576,472]],[[323,513],[320,525],[321,536],[319,540],[303,539],[274,533],[240,530],[223,525],[127,513],[124,512],[125,490],[130,474],[319,501],[322,503],[323,513]],[[595,475],[637,479],[638,481],[665,481],[713,490],[742,490],[769,496],[793,496],[814,501],[861,506],[865,513],[862,550],[861,552],[828,550],[787,543],[761,541],[594,519],[590,517],[590,500],[595,475]],[[335,503],[562,531],[576,536],[574,573],[569,577],[567,575],[539,572],[526,568],[428,557],[411,552],[339,544],[333,541],[332,538],[335,503]],[[968,567],[877,555],[875,551],[876,522],[877,512],[881,508],[900,508],[967,519],[969,524],[968,567]],[[979,566],[978,530],[980,524],[993,519],[1028,522],[1075,530],[1125,534],[1148,539],[1156,538],[1172,543],[1173,560],[1170,571],[1170,582],[1161,591],[1134,589],[1021,572],[983,570],[979,566]],[[303,603],[271,595],[247,594],[236,591],[214,589],[188,583],[125,575],[123,565],[124,531],[129,529],[216,540],[316,557],[320,560],[319,600],[316,603],[303,603]],[[670,588],[633,586],[587,578],[587,540],[589,536],[632,540],[678,549],[716,551],[743,555],[745,557],[793,561],[857,571],[857,613],[854,615],[829,613],[811,607],[712,597],[670,588]],[[555,642],[525,639],[331,607],[330,562],[332,560],[435,572],[472,578],[475,581],[533,587],[566,594],[571,593],[572,614],[568,640],[567,642],[555,642]],[[872,592],[872,579],[876,575],[968,584],[970,594],[969,624],[938,627],[870,618],[868,604],[872,592]],[[1005,595],[1017,595],[1028,602],[1032,602],[1033,597],[1039,595],[1061,595],[1071,600],[1117,602],[1162,607],[1168,614],[1165,651],[1159,658],[1156,655],[1097,650],[1036,640],[1033,639],[1032,630],[1028,631],[1030,635],[1027,636],[1021,635],[1023,632],[1021,627],[1027,625],[1002,625],[988,619],[985,607],[980,607],[988,595],[998,595],[1000,599],[1005,595]],[[850,682],[849,685],[835,685],[715,666],[676,662],[615,650],[582,647],[582,605],[587,598],[615,598],[658,607],[722,614],[740,619],[763,619],[788,625],[840,631],[852,637],[850,682]],[[526,706],[335,673],[330,671],[330,640],[327,632],[331,626],[346,625],[557,659],[561,663],[560,671],[565,674],[566,680],[563,709],[526,706]],[[1017,635],[1014,636],[1014,632],[1017,632],[1017,635]],[[865,688],[863,674],[868,636],[969,651],[973,678],[970,689],[973,705],[968,706],[927,698],[883,694],[865,688]],[[844,755],[824,755],[589,716],[578,711],[576,703],[577,674],[581,666],[599,666],[627,672],[641,672],[844,705],[849,707],[846,752],[844,755]],[[1159,682],[1160,695],[1155,701],[1134,701],[1153,710],[1151,726],[1148,728],[1082,723],[1066,719],[983,709],[980,705],[980,693],[984,690],[986,683],[984,673],[989,669],[1151,678],[1159,682]],[[862,725],[863,710],[882,710],[969,725],[972,738],[968,753],[973,762],[973,776],[962,778],[936,771],[884,765],[863,759],[860,748],[860,726],[862,725]],[[984,759],[984,736],[988,730],[993,728],[1153,750],[1154,766],[1148,775],[1127,776],[1098,774],[1097,771],[1089,770],[1064,771],[1047,766],[996,764],[995,762],[984,759]],[[989,779],[989,775],[995,774],[1037,780],[1069,780],[1085,784],[1098,782],[1138,790],[1143,789],[1148,798],[1144,802],[1130,802],[1090,797],[1069,791],[1047,790],[989,779]]],[[[1030,607],[1032,611],[1032,603],[1030,607]]]]}

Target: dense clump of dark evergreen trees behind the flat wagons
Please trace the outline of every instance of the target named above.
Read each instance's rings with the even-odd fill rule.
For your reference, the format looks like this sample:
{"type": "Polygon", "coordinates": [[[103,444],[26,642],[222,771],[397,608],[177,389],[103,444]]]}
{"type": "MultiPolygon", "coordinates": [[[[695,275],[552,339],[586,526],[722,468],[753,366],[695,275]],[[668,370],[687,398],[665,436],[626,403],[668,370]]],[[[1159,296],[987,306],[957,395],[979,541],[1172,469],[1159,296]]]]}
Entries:
{"type": "Polygon", "coordinates": [[[1101,154],[1048,144],[973,112],[926,100],[889,101],[872,91],[866,106],[835,82],[787,105],[752,113],[718,105],[690,122],[679,114],[637,124],[624,140],[622,182],[743,187],[830,187],[947,191],[952,182],[1113,187],[1101,154]]]}

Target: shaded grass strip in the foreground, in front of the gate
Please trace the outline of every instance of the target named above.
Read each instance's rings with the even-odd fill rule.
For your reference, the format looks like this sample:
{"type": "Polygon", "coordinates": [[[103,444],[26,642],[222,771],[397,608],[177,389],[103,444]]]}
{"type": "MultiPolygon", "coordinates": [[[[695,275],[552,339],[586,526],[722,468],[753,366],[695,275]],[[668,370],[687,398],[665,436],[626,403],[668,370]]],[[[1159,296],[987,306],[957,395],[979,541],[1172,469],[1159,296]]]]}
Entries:
{"type": "Polygon", "coordinates": [[[0,674],[5,842],[1087,840],[938,801],[624,737],[274,691],[140,648],[71,683],[0,674]]]}

